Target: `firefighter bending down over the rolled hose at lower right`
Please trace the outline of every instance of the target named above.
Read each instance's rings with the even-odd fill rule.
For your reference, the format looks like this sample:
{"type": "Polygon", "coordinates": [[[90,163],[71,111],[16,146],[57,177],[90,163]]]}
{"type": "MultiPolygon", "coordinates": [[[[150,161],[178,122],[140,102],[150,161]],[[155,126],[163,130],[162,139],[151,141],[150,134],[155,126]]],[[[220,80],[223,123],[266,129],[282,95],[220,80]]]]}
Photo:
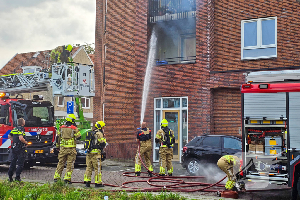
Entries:
{"type": "MultiPolygon", "coordinates": [[[[238,180],[236,174],[238,174],[240,171],[240,159],[232,155],[223,156],[218,160],[218,167],[227,174],[228,181],[226,182],[225,190],[237,191],[237,188],[234,185],[238,180]]],[[[242,189],[241,191],[245,192],[246,190],[244,183],[241,182],[238,184],[242,189]]]]}

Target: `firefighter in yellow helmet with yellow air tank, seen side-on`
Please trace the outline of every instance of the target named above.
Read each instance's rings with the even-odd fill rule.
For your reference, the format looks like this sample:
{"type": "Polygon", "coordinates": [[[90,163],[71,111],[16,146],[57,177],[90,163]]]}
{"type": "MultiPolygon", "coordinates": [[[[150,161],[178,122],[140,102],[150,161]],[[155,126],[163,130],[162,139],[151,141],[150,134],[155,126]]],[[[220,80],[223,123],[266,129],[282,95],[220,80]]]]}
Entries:
{"type": "Polygon", "coordinates": [[[86,154],[86,169],[84,173],[85,187],[90,187],[91,185],[93,169],[95,170],[95,187],[104,187],[101,178],[101,150],[107,145],[103,133],[105,127],[103,121],[97,121],[95,124],[95,144],[92,146],[93,150],[86,154]]]}

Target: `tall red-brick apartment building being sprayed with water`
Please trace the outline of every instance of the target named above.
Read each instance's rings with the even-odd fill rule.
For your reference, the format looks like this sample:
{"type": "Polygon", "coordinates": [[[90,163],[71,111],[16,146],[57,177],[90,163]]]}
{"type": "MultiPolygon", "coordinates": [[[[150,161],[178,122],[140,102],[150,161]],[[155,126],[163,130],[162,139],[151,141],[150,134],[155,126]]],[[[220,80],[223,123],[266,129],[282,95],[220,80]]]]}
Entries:
{"type": "MultiPolygon", "coordinates": [[[[299,13],[295,0],[96,0],[94,118],[107,124],[108,157],[136,154],[153,30],[144,121],[153,135],[170,122],[179,160],[194,136],[239,133],[243,73],[300,69],[299,13]]],[[[158,149],[153,141],[154,161],[158,149]]]]}

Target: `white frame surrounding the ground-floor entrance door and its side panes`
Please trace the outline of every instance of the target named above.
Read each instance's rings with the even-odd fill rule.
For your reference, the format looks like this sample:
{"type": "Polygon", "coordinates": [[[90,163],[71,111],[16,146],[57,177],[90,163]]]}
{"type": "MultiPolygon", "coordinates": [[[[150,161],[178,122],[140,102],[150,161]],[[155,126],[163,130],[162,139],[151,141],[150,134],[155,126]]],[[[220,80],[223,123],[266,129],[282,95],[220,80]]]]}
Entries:
{"type": "Polygon", "coordinates": [[[179,110],[179,162],[181,162],[181,155],[182,155],[182,151],[183,151],[183,144],[182,144],[182,110],[187,110],[187,142],[188,142],[188,97],[155,97],[154,98],[154,114],[153,114],[153,162],[157,163],[159,162],[159,158],[156,158],[156,153],[155,150],[159,150],[159,147],[156,147],[155,145],[155,136],[158,130],[156,130],[156,111],[160,110],[160,121],[163,120],[163,110],[179,110]],[[163,108],[164,107],[164,99],[176,99],[179,98],[179,108],[163,108]],[[183,98],[187,98],[187,107],[182,107],[182,99],[183,98]],[[156,100],[160,99],[161,100],[161,107],[160,108],[156,108],[156,100]]]}

